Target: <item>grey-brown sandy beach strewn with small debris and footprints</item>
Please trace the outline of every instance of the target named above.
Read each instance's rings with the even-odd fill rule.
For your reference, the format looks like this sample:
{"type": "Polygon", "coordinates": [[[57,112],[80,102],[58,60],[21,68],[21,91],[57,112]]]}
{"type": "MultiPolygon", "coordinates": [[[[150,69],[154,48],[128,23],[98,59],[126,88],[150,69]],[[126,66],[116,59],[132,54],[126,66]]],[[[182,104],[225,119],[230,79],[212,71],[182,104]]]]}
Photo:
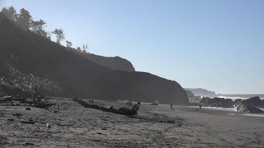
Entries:
{"type": "MultiPolygon", "coordinates": [[[[0,147],[264,148],[264,117],[212,109],[199,112],[184,106],[170,110],[169,105],[144,103],[137,116],[129,117],[84,108],[71,99],[50,101],[61,108],[31,107],[27,111],[24,106],[0,106],[0,147]],[[22,116],[13,116],[14,113],[22,116]],[[37,123],[20,123],[30,119],[37,123]],[[51,128],[45,126],[47,123],[51,128]]],[[[123,101],[101,102],[104,106],[126,107],[123,101]]]]}

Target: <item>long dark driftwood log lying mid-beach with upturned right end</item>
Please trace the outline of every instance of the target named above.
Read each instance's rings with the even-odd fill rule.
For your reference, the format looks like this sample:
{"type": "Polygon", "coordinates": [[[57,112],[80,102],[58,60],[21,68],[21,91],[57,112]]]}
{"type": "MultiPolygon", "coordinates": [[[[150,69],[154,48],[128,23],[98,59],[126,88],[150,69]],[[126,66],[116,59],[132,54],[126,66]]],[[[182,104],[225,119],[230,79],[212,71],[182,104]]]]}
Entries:
{"type": "Polygon", "coordinates": [[[85,108],[92,108],[92,109],[108,111],[108,112],[113,112],[113,113],[117,113],[117,114],[129,115],[129,116],[136,115],[137,111],[139,109],[139,105],[140,105],[140,102],[138,102],[131,109],[124,108],[124,107],[123,108],[119,108],[119,109],[114,109],[112,106],[106,108],[106,107],[103,107],[103,106],[100,106],[100,105],[89,104],[86,101],[83,101],[83,100],[77,99],[77,98],[73,98],[72,101],[78,102],[79,104],[81,104],[85,108]]]}

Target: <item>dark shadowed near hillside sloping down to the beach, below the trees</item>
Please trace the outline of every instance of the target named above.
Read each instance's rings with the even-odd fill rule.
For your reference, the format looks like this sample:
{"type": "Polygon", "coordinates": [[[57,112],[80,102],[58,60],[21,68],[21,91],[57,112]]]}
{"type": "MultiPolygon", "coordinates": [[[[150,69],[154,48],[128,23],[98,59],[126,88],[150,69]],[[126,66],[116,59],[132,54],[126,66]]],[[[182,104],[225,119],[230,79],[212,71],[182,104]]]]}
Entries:
{"type": "Polygon", "coordinates": [[[37,86],[50,96],[188,104],[186,91],[176,81],[107,68],[22,30],[2,13],[0,40],[1,85],[29,93],[37,86]]]}

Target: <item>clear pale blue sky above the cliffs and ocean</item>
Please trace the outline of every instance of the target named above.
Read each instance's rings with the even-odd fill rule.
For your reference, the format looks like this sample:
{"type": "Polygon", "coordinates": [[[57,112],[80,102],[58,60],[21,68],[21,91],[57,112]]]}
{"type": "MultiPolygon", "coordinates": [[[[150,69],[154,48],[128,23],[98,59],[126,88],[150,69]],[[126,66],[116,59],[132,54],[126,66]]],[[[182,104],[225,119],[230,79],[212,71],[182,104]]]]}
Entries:
{"type": "Polygon", "coordinates": [[[11,5],[64,28],[74,48],[183,88],[264,93],[264,0],[0,0],[11,5]]]}

